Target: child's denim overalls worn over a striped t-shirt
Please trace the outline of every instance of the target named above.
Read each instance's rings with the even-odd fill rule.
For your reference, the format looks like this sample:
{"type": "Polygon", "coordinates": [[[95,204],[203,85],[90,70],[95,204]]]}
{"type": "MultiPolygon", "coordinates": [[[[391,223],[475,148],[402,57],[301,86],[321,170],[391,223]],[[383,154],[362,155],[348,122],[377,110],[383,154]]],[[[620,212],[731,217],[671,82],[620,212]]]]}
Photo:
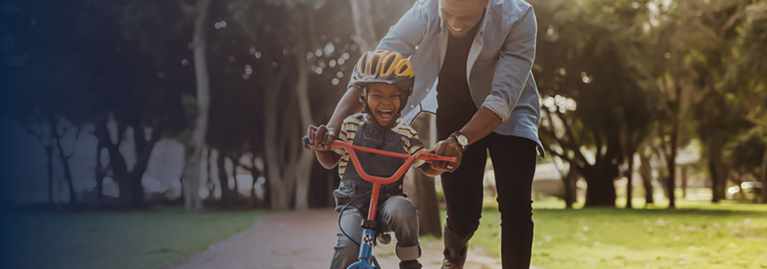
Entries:
{"type": "MultiPolygon", "coordinates": [[[[361,116],[361,115],[360,115],[361,116]]],[[[354,145],[365,146],[371,149],[381,149],[393,153],[407,154],[404,146],[408,138],[395,133],[390,126],[380,126],[378,123],[363,120],[360,123],[354,145]]],[[[410,139],[412,143],[419,143],[418,139],[410,139]]],[[[383,156],[374,153],[357,151],[357,159],[367,174],[371,176],[388,177],[393,175],[405,162],[404,159],[383,156]]],[[[370,208],[370,195],[357,198],[341,212],[344,205],[351,199],[364,195],[373,189],[373,184],[360,177],[354,164],[349,163],[341,179],[341,185],[333,192],[336,199],[336,211],[339,212],[339,223],[347,235],[339,230],[338,241],[335,245],[335,253],[331,261],[331,269],[343,269],[357,261],[359,246],[350,238],[359,242],[362,235],[360,221],[367,218],[370,208]]],[[[402,190],[403,179],[389,185],[381,185],[378,197],[377,223],[378,230],[383,232],[393,231],[397,237],[397,257],[401,261],[412,261],[420,258],[420,244],[418,241],[418,210],[413,202],[407,199],[407,194],[402,190]]],[[[401,267],[401,265],[400,265],[401,267]]]]}

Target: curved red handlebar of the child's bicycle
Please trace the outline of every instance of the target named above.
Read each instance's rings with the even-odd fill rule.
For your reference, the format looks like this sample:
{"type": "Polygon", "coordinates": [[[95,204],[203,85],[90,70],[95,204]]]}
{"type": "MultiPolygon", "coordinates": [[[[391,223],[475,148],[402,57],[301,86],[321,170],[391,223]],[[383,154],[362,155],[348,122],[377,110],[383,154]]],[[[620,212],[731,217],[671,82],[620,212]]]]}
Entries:
{"type": "MultiPolygon", "coordinates": [[[[308,144],[308,139],[305,137],[304,137],[304,143],[308,144]]],[[[380,149],[370,149],[364,146],[355,146],[355,145],[344,143],[338,140],[333,141],[333,143],[331,143],[331,147],[346,149],[347,153],[349,153],[349,156],[351,156],[351,163],[354,164],[354,168],[357,169],[357,172],[360,174],[362,179],[365,179],[371,183],[379,183],[383,185],[393,183],[397,181],[397,179],[400,179],[400,177],[402,177],[402,175],[405,172],[407,172],[407,169],[410,168],[410,165],[412,165],[413,162],[419,159],[424,160],[426,162],[433,162],[433,161],[456,162],[457,161],[456,157],[439,156],[432,153],[416,153],[415,155],[408,155],[403,153],[392,153],[392,152],[388,152],[388,151],[380,150],[380,149]],[[405,163],[403,163],[402,166],[400,166],[400,169],[397,169],[397,172],[395,172],[394,175],[390,177],[384,178],[380,176],[370,176],[367,174],[367,172],[364,171],[364,169],[362,169],[362,165],[360,164],[360,160],[357,159],[357,152],[355,150],[405,159],[405,163]]]]}

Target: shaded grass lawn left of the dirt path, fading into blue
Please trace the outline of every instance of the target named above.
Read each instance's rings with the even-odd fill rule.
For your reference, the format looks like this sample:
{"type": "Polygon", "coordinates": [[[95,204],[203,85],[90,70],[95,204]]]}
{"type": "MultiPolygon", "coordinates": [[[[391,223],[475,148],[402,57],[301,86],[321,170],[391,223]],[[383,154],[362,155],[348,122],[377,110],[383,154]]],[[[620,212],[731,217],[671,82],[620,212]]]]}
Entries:
{"type": "Polygon", "coordinates": [[[12,268],[163,268],[244,231],[260,213],[161,208],[6,215],[0,224],[6,244],[2,256],[7,258],[0,264],[12,268]]]}

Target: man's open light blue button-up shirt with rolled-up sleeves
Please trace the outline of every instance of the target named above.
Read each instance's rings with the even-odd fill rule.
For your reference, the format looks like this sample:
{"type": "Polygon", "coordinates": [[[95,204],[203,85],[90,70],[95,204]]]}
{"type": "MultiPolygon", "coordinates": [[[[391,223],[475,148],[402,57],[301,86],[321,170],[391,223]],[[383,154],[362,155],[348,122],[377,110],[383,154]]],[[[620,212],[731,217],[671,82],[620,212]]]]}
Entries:
{"type": "MultiPolygon", "coordinates": [[[[480,24],[466,61],[472,100],[501,118],[495,133],[532,139],[543,156],[538,139],[541,106],[531,71],[538,32],[533,8],[522,0],[490,0],[480,24]]],[[[448,35],[439,18],[439,0],[420,0],[378,44],[378,50],[410,57],[416,73],[403,120],[412,122],[422,110],[436,112],[437,77],[448,35]]]]}

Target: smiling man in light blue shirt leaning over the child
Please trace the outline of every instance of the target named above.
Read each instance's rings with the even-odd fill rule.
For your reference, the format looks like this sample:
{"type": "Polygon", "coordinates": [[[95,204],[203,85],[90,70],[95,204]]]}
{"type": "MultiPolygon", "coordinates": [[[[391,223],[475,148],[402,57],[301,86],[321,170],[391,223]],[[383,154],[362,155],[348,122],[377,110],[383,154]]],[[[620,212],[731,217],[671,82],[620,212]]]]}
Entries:
{"type": "MultiPolygon", "coordinates": [[[[487,152],[495,168],[502,219],[502,266],[530,266],[531,186],[540,105],[532,77],[537,27],[522,0],[421,0],[378,44],[410,56],[416,74],[407,115],[438,81],[433,152],[456,156],[438,163],[446,200],[444,269],[463,268],[467,242],[479,226],[487,152]]],[[[349,87],[328,126],[312,133],[329,144],[347,116],[362,110],[360,89],[349,87]]]]}

